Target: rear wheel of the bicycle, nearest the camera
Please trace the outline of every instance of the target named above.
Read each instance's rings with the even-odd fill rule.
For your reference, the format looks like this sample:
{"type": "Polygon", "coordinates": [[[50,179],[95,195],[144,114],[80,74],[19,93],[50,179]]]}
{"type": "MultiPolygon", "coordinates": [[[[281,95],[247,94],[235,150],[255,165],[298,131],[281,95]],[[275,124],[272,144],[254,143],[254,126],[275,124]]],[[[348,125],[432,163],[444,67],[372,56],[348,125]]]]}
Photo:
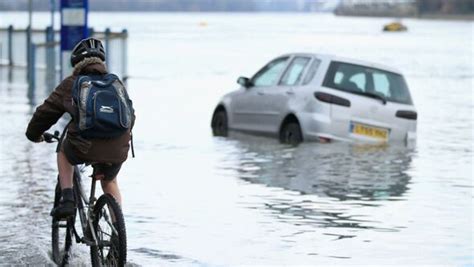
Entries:
{"type": "Polygon", "coordinates": [[[112,195],[104,194],[97,200],[93,226],[98,246],[91,246],[92,266],[124,266],[127,262],[125,221],[112,195]]]}

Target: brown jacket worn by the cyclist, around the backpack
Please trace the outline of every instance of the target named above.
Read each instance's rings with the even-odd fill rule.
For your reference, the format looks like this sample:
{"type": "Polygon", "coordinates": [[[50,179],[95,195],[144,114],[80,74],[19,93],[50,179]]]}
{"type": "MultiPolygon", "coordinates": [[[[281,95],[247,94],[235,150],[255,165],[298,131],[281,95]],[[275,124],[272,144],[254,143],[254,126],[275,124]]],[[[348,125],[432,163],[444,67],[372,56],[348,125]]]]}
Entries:
{"type": "MultiPolygon", "coordinates": [[[[122,163],[127,159],[130,148],[130,131],[114,139],[84,139],[79,135],[75,108],[72,101],[72,87],[77,75],[105,74],[107,70],[102,64],[91,64],[83,68],[80,73],[64,79],[49,97],[36,108],[33,118],[28,124],[26,137],[35,141],[53,126],[61,116],[67,112],[73,121],[68,126],[65,142],[69,142],[75,156],[85,162],[94,163],[122,163]]],[[[135,122],[135,114],[132,115],[132,127],[135,122]]]]}

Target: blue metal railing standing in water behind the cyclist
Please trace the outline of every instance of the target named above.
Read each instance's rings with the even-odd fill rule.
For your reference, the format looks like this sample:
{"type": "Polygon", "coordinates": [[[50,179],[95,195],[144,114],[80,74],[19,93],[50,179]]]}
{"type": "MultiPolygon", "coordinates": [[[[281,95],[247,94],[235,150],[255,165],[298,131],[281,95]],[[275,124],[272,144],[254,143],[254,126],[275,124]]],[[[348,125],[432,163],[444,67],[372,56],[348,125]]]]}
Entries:
{"type": "MultiPolygon", "coordinates": [[[[108,70],[126,81],[127,30],[121,32],[112,32],[108,28],[103,32],[89,30],[91,36],[104,43],[108,70]]],[[[0,28],[0,66],[26,68],[26,79],[30,90],[34,90],[37,83],[53,89],[60,78],[59,40],[60,32],[53,31],[51,27],[31,30],[30,45],[28,45],[28,28],[15,29],[13,26],[0,28]]]]}

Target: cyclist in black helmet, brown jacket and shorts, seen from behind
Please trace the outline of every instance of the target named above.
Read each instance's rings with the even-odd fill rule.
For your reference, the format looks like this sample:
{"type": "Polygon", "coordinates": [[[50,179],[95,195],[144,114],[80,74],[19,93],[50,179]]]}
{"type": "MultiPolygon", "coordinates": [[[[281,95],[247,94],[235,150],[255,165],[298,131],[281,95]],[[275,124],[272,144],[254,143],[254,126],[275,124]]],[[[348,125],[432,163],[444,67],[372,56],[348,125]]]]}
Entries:
{"type": "Polygon", "coordinates": [[[43,133],[53,126],[64,113],[69,113],[72,123],[67,126],[67,135],[60,144],[57,156],[59,182],[62,198],[58,207],[51,211],[56,218],[75,214],[73,194],[73,165],[89,163],[94,168],[94,178],[101,180],[104,193],[109,193],[121,204],[122,198],[117,184],[117,174],[126,161],[130,148],[131,128],[135,122],[132,108],[131,126],[125,133],[109,139],[87,139],[79,132],[79,118],[74,107],[73,86],[80,75],[105,75],[105,50],[100,40],[87,38],[80,41],[71,54],[72,75],[65,78],[36,108],[26,130],[26,137],[33,142],[44,141],[43,133]]]}

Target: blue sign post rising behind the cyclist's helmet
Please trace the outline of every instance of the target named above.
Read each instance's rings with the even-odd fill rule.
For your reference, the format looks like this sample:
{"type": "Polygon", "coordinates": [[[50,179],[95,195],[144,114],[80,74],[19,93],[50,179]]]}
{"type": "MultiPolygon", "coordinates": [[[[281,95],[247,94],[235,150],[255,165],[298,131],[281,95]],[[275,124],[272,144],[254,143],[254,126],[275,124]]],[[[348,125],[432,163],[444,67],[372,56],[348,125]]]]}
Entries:
{"type": "Polygon", "coordinates": [[[89,35],[88,12],[88,0],[61,0],[61,79],[72,71],[72,49],[89,35]]]}

